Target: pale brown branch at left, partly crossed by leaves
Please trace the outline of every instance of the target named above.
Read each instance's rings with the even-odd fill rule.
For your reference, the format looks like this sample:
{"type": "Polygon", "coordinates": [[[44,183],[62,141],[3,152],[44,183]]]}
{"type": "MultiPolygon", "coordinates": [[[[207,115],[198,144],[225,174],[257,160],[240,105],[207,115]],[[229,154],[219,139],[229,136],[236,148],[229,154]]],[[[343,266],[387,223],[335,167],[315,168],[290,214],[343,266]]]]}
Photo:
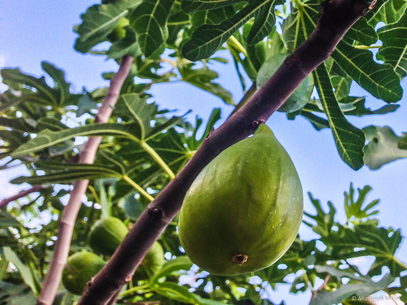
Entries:
{"type": "MultiPolygon", "coordinates": [[[[119,71],[110,81],[110,87],[107,90],[102,106],[99,108],[95,117],[95,123],[106,123],[110,117],[115,103],[117,102],[123,83],[130,72],[133,57],[124,56],[120,64],[119,71]]],[[[92,164],[95,160],[96,151],[102,137],[92,137],[84,145],[79,154],[79,163],[92,164]]],[[[68,258],[71,245],[72,232],[82,204],[82,197],[88,188],[89,180],[79,180],[74,182],[74,188],[71,191],[68,204],[64,207],[58,226],[57,240],[55,241],[54,251],[48,272],[45,276],[37,305],[51,305],[57,289],[61,282],[62,270],[68,258]]]]}

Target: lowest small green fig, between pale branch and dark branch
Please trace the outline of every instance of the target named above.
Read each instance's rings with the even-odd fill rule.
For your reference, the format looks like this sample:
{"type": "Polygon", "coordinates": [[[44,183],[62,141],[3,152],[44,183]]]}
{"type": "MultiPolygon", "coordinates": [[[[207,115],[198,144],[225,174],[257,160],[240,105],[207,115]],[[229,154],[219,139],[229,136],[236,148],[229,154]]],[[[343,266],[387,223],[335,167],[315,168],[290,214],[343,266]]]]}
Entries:
{"type": "Polygon", "coordinates": [[[62,270],[62,283],[73,294],[81,295],[86,284],[106,262],[92,252],[77,252],[68,258],[62,270]]]}

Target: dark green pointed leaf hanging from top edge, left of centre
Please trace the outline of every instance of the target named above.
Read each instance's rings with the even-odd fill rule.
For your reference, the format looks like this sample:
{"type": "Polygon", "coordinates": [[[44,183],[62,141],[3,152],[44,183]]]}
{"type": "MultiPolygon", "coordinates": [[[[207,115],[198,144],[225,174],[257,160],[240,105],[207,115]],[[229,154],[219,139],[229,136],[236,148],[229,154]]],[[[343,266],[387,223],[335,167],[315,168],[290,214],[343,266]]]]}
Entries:
{"type": "Polygon", "coordinates": [[[175,0],[144,0],[129,15],[137,33],[138,45],[147,57],[159,49],[168,37],[166,21],[175,0]]]}

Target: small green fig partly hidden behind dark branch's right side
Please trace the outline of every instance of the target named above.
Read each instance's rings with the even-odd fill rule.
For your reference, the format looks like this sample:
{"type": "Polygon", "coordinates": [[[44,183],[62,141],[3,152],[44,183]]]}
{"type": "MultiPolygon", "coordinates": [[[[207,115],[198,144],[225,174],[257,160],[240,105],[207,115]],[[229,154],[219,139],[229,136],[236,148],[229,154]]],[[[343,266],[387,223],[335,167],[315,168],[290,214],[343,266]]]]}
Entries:
{"type": "Polygon", "coordinates": [[[142,262],[134,272],[134,280],[145,280],[159,271],[164,265],[164,251],[158,241],[153,243],[149,253],[144,256],[142,262]]]}

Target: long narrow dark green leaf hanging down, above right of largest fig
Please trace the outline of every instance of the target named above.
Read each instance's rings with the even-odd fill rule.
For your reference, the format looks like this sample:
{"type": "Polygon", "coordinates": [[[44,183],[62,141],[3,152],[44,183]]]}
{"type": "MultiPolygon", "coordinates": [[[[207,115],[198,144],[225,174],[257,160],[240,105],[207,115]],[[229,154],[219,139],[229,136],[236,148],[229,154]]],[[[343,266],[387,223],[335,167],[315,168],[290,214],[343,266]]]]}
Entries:
{"type": "Polygon", "coordinates": [[[324,64],[313,72],[319,99],[327,114],[335,144],[342,160],[355,170],[363,166],[363,132],[350,124],[341,111],[332,90],[332,84],[324,64]]]}

